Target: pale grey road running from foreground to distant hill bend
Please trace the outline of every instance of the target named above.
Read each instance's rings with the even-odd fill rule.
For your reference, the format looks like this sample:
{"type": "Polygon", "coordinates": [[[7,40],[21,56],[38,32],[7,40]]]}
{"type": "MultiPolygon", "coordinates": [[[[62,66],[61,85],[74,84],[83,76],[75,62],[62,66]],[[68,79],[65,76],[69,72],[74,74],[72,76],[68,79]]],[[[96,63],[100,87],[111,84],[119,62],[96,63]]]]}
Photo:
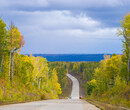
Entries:
{"type": "Polygon", "coordinates": [[[44,100],[30,103],[11,104],[0,106],[0,110],[100,110],[94,105],[79,99],[79,82],[72,75],[67,74],[72,80],[72,99],[44,100]]]}

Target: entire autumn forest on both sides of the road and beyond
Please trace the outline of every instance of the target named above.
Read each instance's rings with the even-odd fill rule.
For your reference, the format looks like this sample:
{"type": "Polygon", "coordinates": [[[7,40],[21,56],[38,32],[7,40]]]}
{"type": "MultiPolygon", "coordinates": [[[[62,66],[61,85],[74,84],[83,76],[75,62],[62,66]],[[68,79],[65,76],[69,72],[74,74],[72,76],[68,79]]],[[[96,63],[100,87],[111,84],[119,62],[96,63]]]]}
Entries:
{"type": "Polygon", "coordinates": [[[49,62],[43,57],[20,54],[26,41],[13,23],[0,18],[0,103],[69,97],[71,81],[77,77],[84,98],[130,107],[128,71],[130,14],[117,29],[122,36],[121,55],[100,62],[49,62]]]}

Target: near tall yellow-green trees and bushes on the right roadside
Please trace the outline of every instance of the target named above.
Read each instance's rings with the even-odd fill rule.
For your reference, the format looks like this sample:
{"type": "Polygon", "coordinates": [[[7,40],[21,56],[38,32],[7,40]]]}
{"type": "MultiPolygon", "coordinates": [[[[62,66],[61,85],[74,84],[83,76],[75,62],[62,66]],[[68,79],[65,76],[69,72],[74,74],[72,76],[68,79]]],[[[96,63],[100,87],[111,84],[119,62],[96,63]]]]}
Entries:
{"type": "Polygon", "coordinates": [[[123,39],[123,54],[113,54],[110,59],[100,62],[94,77],[87,82],[87,93],[99,101],[130,107],[130,14],[121,21],[118,35],[123,39]]]}

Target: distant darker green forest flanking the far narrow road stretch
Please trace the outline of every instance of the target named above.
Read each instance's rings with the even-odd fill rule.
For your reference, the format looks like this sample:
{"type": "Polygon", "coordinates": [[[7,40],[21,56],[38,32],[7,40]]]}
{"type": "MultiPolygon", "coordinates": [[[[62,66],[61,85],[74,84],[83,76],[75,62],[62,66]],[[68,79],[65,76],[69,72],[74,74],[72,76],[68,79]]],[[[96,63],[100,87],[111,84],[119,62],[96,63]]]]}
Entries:
{"type": "Polygon", "coordinates": [[[71,81],[67,78],[67,73],[72,74],[80,81],[83,89],[81,95],[86,95],[86,83],[93,78],[95,68],[99,62],[48,62],[51,69],[55,68],[58,75],[58,82],[61,85],[61,97],[69,97],[71,94],[71,81]]]}

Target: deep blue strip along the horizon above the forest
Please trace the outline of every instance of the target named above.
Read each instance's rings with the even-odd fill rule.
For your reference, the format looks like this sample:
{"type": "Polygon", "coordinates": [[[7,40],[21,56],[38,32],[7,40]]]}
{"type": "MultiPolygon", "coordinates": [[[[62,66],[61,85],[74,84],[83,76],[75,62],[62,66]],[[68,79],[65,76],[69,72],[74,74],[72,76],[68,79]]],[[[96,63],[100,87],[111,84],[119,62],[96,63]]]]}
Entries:
{"type": "MultiPolygon", "coordinates": [[[[48,61],[66,61],[66,62],[92,62],[104,59],[104,54],[33,54],[35,57],[42,56],[48,61]]],[[[109,54],[111,55],[111,54],[109,54]]]]}

